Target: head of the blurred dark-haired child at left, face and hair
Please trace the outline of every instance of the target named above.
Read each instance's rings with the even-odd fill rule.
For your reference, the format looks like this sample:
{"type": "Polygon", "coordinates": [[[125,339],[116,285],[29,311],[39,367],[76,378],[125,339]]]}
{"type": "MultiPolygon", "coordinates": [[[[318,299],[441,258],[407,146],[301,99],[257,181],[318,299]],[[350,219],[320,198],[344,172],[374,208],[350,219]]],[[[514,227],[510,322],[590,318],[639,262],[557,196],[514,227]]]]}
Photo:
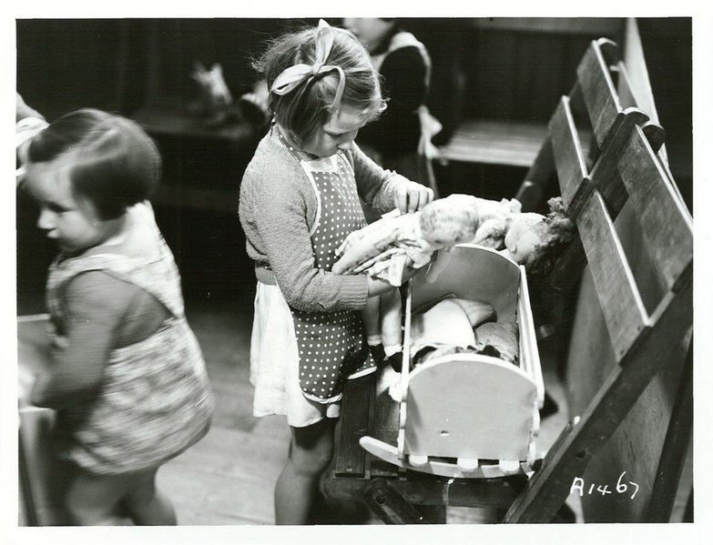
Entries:
{"type": "Polygon", "coordinates": [[[60,117],[29,146],[25,186],[38,227],[69,250],[105,240],[158,182],[160,157],[133,121],[94,109],[60,117]]]}

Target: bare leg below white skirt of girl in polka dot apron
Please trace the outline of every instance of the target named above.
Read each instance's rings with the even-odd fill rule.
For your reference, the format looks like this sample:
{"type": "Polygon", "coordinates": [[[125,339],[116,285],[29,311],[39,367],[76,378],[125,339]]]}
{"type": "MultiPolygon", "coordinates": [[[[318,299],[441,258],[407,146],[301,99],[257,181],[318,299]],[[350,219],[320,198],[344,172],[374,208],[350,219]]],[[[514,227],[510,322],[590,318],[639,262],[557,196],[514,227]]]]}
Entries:
{"type": "Polygon", "coordinates": [[[305,524],[320,476],[334,450],[336,419],[321,419],[306,428],[290,428],[290,459],[275,485],[275,522],[305,524]]]}

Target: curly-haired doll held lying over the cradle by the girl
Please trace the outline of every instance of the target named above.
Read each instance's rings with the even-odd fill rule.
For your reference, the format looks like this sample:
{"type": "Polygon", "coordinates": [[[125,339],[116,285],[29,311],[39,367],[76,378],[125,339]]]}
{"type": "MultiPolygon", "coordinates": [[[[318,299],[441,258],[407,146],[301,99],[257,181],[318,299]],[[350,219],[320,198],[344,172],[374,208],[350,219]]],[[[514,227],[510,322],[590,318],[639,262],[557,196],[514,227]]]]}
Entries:
{"type": "MultiPolygon", "coordinates": [[[[548,216],[521,212],[517,199],[500,201],[455,194],[437,199],[415,214],[386,214],[351,233],[337,249],[337,274],[387,279],[401,286],[404,267],[430,264],[426,280],[433,281],[448,264],[456,244],[471,242],[501,249],[529,276],[545,276],[562,247],[575,233],[561,197],[548,201],[548,216]],[[436,258],[433,260],[433,254],[436,258]]],[[[401,298],[396,290],[374,298],[362,313],[367,343],[377,361],[388,358],[401,370],[401,298]],[[381,328],[379,320],[381,317],[381,328]]]]}

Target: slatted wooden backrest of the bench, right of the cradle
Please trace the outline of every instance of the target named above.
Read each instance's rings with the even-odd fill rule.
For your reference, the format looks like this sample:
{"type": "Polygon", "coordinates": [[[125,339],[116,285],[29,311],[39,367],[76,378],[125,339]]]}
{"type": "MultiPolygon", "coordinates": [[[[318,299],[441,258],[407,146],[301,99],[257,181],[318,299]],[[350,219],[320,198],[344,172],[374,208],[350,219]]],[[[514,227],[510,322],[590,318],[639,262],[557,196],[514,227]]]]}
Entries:
{"type": "Polygon", "coordinates": [[[570,280],[581,278],[566,349],[570,414],[579,420],[550,450],[508,521],[548,520],[576,478],[614,490],[628,471],[629,491],[628,480],[640,487],[626,502],[600,494],[597,506],[596,496],[587,495],[585,517],[587,510],[595,515],[588,521],[646,520],[655,500],[651,490],[693,323],[692,219],[657,155],[663,130],[617,96],[610,66],[623,74],[626,67],[612,62],[613,53],[608,41],[592,43],[543,146],[586,257],[582,275],[567,271],[570,280]],[[582,104],[596,142],[590,157],[575,122],[582,104]]]}

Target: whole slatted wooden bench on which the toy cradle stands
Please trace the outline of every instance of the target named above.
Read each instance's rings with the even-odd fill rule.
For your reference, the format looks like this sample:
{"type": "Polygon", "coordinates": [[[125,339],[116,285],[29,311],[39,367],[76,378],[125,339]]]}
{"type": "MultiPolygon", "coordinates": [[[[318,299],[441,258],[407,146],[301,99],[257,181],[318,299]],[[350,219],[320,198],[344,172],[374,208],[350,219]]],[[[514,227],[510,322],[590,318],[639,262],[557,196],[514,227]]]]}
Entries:
{"type": "Polygon", "coordinates": [[[561,351],[573,418],[530,479],[442,479],[397,469],[360,449],[358,440],[367,434],[395,444],[398,430],[396,404],[382,381],[361,378],[344,392],[341,434],[326,480],[331,496],[365,501],[386,522],[423,522],[414,505],[506,508],[505,522],[547,522],[583,479],[583,496],[593,498],[590,484],[608,484],[603,501],[637,506],[620,510],[619,520],[648,520],[652,510],[658,518],[670,515],[670,504],[659,500],[677,482],[676,447],[687,440],[689,389],[684,381],[677,397],[676,390],[679,377],[687,376],[681,369],[692,330],[692,220],[657,155],[663,129],[636,106],[621,104],[614,78],[625,80],[626,66],[615,55],[608,40],[587,49],[577,83],[556,107],[518,194],[535,207],[555,179],[579,230],[550,278],[551,286],[574,297],[556,324],[568,331],[561,351]],[[594,137],[589,156],[579,138],[587,123],[594,137]],[[647,433],[625,438],[626,463],[621,456],[608,463],[598,458],[662,370],[675,400],[647,415],[656,440],[647,443],[647,433]],[[672,412],[667,433],[664,417],[672,412]],[[629,465],[643,456],[637,469],[629,465]],[[604,473],[586,473],[590,462],[608,469],[609,480],[591,480],[604,473]],[[629,483],[639,490],[634,499],[621,491],[633,494],[629,483]]]}

